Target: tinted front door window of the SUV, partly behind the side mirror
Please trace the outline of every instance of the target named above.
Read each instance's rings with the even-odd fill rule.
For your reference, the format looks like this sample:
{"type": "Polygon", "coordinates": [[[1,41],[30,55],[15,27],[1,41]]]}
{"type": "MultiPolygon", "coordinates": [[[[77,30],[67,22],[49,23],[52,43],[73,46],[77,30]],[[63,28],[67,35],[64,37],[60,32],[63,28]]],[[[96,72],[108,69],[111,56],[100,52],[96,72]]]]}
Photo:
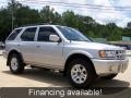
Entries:
{"type": "Polygon", "coordinates": [[[56,35],[56,32],[52,27],[40,27],[38,32],[38,41],[50,41],[49,36],[56,35]]]}

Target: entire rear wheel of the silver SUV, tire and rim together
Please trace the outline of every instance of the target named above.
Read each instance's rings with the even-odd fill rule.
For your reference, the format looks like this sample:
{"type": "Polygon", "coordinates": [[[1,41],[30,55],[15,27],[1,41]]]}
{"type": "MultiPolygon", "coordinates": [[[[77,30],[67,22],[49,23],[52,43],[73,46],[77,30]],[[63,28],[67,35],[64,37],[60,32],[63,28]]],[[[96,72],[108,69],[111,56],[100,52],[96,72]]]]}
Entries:
{"type": "Polygon", "coordinates": [[[10,71],[14,74],[20,74],[24,71],[24,64],[17,53],[12,53],[9,58],[10,71]]]}

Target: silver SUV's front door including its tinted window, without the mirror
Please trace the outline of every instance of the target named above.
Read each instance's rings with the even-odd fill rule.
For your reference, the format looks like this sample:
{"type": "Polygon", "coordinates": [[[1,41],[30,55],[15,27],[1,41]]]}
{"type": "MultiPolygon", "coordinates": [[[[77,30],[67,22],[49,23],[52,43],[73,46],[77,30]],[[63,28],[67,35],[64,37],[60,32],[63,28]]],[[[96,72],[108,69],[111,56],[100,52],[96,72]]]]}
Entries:
{"type": "MultiPolygon", "coordinates": [[[[50,35],[58,35],[50,26],[41,26],[38,30],[36,51],[37,63],[51,68],[60,68],[62,65],[63,42],[53,42],[49,40],[50,35]]],[[[59,35],[58,35],[59,36],[59,35]]]]}

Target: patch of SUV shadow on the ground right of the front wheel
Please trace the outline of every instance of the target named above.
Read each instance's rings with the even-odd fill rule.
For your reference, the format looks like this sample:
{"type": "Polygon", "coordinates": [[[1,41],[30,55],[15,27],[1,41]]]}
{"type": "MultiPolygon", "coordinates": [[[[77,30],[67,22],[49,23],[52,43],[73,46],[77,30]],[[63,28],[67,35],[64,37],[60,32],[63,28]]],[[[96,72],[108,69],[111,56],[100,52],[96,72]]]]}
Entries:
{"type": "Polygon", "coordinates": [[[124,90],[130,90],[130,83],[120,79],[96,79],[92,87],[103,90],[103,95],[124,93],[124,90]]]}

